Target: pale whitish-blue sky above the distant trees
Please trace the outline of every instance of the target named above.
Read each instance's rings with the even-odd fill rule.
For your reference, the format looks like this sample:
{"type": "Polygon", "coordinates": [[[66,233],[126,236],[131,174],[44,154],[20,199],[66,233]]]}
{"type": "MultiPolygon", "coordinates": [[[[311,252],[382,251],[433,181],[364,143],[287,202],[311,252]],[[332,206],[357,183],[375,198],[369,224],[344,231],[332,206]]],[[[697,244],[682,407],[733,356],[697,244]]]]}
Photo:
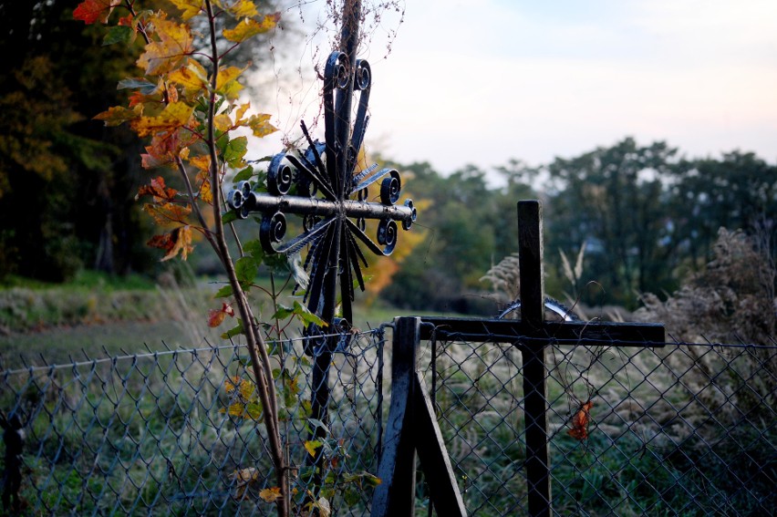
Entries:
{"type": "MultiPolygon", "coordinates": [[[[689,157],[740,149],[777,161],[777,0],[403,5],[404,22],[384,16],[360,53],[373,70],[368,150],[450,173],[538,165],[634,136],[689,157]],[[397,30],[388,57],[383,27],[397,30]]],[[[303,30],[314,27],[306,16],[303,30]]],[[[310,70],[329,52],[324,37],[276,71],[310,70]]],[[[261,109],[295,138],[300,116],[316,116],[320,82],[276,84],[261,109]]]]}

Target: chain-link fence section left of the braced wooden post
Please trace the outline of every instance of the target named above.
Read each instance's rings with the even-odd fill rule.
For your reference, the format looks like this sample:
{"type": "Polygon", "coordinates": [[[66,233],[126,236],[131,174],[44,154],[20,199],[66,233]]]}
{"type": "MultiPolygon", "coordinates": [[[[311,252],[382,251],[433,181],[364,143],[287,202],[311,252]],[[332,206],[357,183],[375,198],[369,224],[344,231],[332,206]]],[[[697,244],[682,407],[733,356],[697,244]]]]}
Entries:
{"type": "MultiPolygon", "coordinates": [[[[271,344],[295,514],[312,492],[337,515],[368,514],[383,332],[341,337],[326,439],[315,443],[312,359],[302,340],[271,344]],[[314,475],[319,448],[324,471],[314,475]]],[[[213,346],[0,371],[5,512],[275,514],[261,497],[275,472],[249,364],[244,346],[213,346]]]]}

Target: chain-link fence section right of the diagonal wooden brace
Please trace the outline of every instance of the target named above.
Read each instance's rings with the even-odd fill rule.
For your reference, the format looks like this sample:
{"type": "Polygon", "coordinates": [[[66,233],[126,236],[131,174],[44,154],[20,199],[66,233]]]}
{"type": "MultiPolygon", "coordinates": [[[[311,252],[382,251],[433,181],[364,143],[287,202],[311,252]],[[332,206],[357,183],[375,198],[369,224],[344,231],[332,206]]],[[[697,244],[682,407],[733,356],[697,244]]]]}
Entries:
{"type": "MultiPolygon", "coordinates": [[[[554,513],[777,508],[777,346],[551,345],[554,513]]],[[[468,512],[525,514],[521,351],[461,341],[429,349],[426,378],[468,512]]]]}

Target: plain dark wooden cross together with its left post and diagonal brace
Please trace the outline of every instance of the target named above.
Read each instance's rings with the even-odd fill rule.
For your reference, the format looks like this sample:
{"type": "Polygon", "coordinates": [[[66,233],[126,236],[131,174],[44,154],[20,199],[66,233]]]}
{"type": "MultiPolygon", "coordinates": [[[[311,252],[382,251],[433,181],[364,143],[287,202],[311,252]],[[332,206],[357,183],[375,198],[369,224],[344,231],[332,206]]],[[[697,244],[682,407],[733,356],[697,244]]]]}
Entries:
{"type": "MultiPolygon", "coordinates": [[[[521,320],[425,317],[395,320],[395,352],[392,365],[391,408],[373,499],[372,515],[410,515],[414,500],[415,452],[430,482],[431,500],[440,515],[464,515],[466,510],[456,485],[440,429],[431,411],[428,392],[423,386],[417,353],[421,339],[468,342],[497,341],[518,346],[523,355],[523,410],[526,440],[526,481],[528,512],[550,516],[551,482],[547,430],[547,367],[545,349],[556,345],[606,343],[611,346],[664,346],[664,326],[603,322],[547,322],[544,320],[543,222],[538,201],[518,202],[518,252],[521,281],[521,320]],[[418,320],[417,333],[405,330],[403,320],[418,320]],[[399,332],[399,336],[397,333],[399,332]],[[405,342],[409,342],[405,343],[405,342]],[[410,366],[408,363],[410,362],[410,366]],[[405,373],[407,372],[407,373],[405,373]],[[402,380],[407,376],[409,380],[402,380]],[[407,415],[414,415],[409,418],[407,415]],[[414,470],[413,470],[414,471],[414,470]],[[384,478],[390,478],[389,480],[384,478]],[[400,481],[397,481],[397,480],[400,481]],[[398,484],[399,483],[399,484],[398,484]]],[[[411,326],[410,326],[411,327],[411,326]]]]}

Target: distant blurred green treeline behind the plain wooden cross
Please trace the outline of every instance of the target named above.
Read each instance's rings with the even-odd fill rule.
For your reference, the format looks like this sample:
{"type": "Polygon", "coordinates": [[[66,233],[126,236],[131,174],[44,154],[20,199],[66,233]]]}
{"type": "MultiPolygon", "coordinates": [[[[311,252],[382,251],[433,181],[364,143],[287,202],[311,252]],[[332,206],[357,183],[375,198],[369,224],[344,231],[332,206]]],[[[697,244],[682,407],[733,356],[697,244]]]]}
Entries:
{"type": "Polygon", "coordinates": [[[708,262],[721,226],[757,234],[772,260],[775,253],[777,166],[752,153],[688,160],[664,142],[643,147],[627,138],[537,168],[511,160],[495,169],[500,188],[473,165],[447,177],[429,163],[397,167],[407,191],[431,202],[419,216],[429,242],[382,294],[400,307],[493,307],[480,278],[517,251],[520,199],[544,202],[546,291],[586,305],[634,308],[640,293],[673,292],[708,262]],[[582,274],[570,280],[562,252],[574,270],[584,244],[582,274]]]}

